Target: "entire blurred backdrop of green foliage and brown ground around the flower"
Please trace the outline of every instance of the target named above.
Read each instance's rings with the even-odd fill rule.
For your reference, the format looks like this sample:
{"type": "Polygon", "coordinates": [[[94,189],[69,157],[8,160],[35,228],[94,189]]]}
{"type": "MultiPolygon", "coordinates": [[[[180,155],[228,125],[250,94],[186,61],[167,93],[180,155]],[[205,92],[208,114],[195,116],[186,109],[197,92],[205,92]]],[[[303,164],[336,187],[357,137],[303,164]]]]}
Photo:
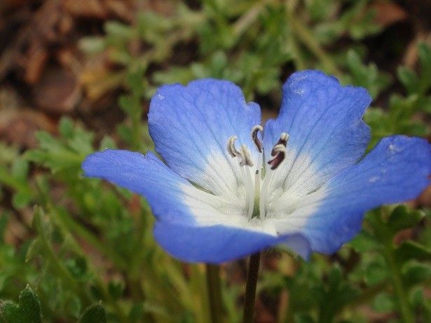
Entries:
{"type": "MultiPolygon", "coordinates": [[[[205,266],[153,241],[142,198],[88,153],[153,149],[164,83],[226,78],[276,116],[293,71],[369,90],[373,146],[430,138],[431,1],[0,0],[0,320],[210,322],[205,266]]],[[[367,215],[334,256],[264,256],[257,322],[431,322],[431,190],[367,215]],[[377,219],[377,220],[376,220],[377,219]]],[[[221,266],[239,322],[245,261],[221,266]]]]}

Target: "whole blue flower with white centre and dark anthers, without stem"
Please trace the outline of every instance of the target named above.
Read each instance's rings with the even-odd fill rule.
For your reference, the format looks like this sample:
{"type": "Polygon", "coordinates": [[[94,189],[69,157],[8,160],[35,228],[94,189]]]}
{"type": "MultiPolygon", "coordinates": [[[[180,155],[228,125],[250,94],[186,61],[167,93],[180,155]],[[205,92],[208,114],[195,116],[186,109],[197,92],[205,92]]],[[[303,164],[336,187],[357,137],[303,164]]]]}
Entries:
{"type": "Polygon", "coordinates": [[[364,212],[430,184],[425,139],[385,137],[364,156],[370,102],[364,88],[299,71],[283,86],[278,118],[261,127],[259,106],[229,81],[163,85],[149,132],[166,165],[150,151],[105,150],[82,167],[143,195],[156,240],[184,261],[221,263],[275,245],[306,259],[331,254],[364,212]]]}

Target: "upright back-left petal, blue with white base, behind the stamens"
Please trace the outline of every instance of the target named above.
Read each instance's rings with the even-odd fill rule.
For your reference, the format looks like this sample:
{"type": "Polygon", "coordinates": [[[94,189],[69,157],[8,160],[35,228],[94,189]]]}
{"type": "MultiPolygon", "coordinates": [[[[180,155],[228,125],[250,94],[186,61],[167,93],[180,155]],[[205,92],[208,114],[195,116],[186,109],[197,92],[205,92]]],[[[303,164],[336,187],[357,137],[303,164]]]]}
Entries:
{"type": "Polygon", "coordinates": [[[228,138],[236,135],[238,146],[250,149],[250,132],[259,123],[257,104],[247,104],[233,83],[214,79],[164,85],[149,109],[149,132],[167,165],[220,196],[238,193],[238,160],[228,156],[228,138]]]}

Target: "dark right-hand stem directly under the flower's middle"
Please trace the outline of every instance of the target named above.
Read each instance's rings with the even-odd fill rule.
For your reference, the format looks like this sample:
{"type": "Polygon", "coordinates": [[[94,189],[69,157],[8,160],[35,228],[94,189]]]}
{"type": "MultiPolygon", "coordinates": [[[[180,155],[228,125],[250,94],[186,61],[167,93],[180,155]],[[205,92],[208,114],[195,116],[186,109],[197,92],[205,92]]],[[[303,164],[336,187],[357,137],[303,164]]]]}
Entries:
{"type": "Polygon", "coordinates": [[[254,318],[254,301],[256,300],[256,284],[257,275],[259,273],[259,263],[261,261],[261,254],[257,252],[252,254],[249,259],[247,282],[245,285],[244,297],[244,315],[242,316],[243,323],[251,323],[254,318]]]}

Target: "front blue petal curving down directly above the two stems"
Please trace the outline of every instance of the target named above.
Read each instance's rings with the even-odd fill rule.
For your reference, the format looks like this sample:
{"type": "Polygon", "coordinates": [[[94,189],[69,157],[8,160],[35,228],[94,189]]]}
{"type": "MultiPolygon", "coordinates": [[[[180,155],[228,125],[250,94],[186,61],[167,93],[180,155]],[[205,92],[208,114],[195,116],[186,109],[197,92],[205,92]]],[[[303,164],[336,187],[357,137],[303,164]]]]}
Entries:
{"type": "Polygon", "coordinates": [[[226,226],[181,226],[156,222],[154,236],[169,254],[189,262],[222,263],[284,243],[307,259],[308,240],[300,234],[275,237],[226,226]]]}

